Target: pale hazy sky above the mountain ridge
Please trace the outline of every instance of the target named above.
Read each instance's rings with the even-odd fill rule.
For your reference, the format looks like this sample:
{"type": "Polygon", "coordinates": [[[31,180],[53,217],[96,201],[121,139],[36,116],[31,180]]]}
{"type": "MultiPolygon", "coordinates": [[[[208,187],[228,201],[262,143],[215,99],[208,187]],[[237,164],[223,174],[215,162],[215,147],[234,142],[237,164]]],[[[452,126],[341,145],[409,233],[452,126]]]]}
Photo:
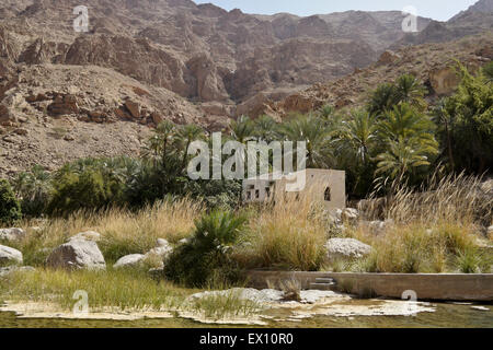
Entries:
{"type": "Polygon", "coordinates": [[[342,12],[347,10],[401,11],[406,5],[417,9],[417,14],[446,21],[468,9],[478,0],[194,0],[196,3],[213,2],[226,10],[241,9],[246,13],[274,14],[289,12],[299,15],[342,12]]]}

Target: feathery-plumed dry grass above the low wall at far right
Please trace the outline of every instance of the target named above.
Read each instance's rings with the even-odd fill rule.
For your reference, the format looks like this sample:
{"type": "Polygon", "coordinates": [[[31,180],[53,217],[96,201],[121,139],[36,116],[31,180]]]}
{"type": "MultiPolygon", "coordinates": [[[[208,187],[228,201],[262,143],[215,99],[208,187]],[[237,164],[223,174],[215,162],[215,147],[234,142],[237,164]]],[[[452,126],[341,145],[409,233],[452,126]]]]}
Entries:
{"type": "MultiPolygon", "coordinates": [[[[371,234],[366,225],[348,230],[374,247],[353,269],[369,272],[490,272],[492,256],[478,247],[481,228],[491,224],[493,196],[481,177],[433,176],[417,191],[394,186],[380,208],[392,224],[371,234]]],[[[371,212],[370,212],[371,215],[371,212]]]]}

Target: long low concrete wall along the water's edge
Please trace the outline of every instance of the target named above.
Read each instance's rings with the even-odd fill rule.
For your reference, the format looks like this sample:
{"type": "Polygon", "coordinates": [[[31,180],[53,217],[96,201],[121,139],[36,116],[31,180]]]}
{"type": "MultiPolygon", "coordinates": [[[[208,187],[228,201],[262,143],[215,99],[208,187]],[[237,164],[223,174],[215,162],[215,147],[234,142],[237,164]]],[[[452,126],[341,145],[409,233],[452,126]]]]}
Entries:
{"type": "Polygon", "coordinates": [[[311,289],[317,278],[332,278],[335,285],[330,289],[362,296],[401,299],[404,291],[412,290],[419,300],[493,301],[493,273],[249,272],[250,287],[257,289],[293,279],[302,289],[311,289]]]}

